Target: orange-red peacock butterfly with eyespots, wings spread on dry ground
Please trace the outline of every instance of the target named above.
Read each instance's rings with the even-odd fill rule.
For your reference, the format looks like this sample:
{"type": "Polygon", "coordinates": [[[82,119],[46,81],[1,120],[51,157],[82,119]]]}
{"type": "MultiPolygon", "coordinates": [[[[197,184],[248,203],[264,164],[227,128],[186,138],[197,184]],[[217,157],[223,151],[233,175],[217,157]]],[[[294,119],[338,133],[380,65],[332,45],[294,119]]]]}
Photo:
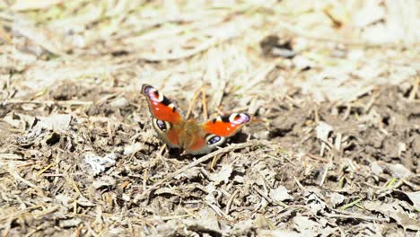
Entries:
{"type": "Polygon", "coordinates": [[[153,127],[162,141],[187,154],[206,154],[222,145],[227,137],[236,134],[251,120],[249,114],[233,113],[204,123],[194,118],[186,120],[175,105],[153,86],[142,86],[153,117],[153,127]]]}

